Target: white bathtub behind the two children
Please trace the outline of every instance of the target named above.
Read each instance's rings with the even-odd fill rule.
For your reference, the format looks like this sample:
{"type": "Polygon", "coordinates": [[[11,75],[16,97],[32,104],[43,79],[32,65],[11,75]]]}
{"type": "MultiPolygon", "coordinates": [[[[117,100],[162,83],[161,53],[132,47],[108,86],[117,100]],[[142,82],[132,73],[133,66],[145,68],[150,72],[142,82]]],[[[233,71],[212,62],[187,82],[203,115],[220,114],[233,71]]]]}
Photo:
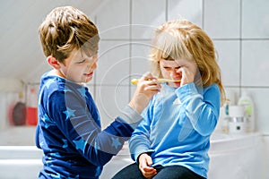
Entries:
{"type": "MultiPolygon", "coordinates": [[[[33,146],[34,127],[16,127],[9,132],[0,132],[0,178],[4,179],[31,179],[37,178],[42,167],[42,151],[33,146]],[[16,139],[24,140],[31,146],[4,145],[5,142],[16,139]],[[27,141],[28,140],[28,141],[27,141]]],[[[15,142],[15,141],[13,141],[15,142]]],[[[213,133],[211,139],[211,158],[209,179],[238,179],[264,178],[265,165],[262,137],[259,133],[244,135],[230,135],[219,132],[213,133]]],[[[108,179],[115,175],[124,166],[133,161],[129,156],[127,143],[118,155],[112,158],[106,166],[100,179],[108,179]]]]}

